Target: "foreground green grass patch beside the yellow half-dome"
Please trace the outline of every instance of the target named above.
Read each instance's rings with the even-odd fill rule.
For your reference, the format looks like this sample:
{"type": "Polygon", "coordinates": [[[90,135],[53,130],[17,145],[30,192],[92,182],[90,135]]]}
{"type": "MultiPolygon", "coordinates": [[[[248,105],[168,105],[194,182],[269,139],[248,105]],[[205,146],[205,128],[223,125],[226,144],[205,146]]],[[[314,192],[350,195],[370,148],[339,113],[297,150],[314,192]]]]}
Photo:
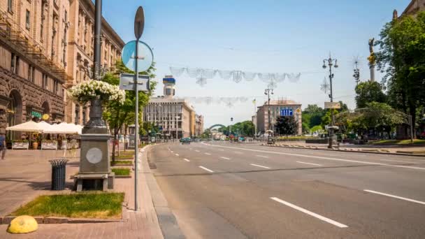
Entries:
{"type": "Polygon", "coordinates": [[[120,218],[124,193],[80,193],[38,196],[11,216],[120,218]]]}

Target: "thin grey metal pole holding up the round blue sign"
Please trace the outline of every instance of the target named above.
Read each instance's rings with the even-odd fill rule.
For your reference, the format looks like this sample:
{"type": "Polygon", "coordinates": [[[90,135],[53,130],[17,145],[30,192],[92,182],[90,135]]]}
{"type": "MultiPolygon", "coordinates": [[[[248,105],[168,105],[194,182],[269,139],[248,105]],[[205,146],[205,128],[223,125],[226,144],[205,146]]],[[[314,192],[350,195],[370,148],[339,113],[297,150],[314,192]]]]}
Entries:
{"type": "Polygon", "coordinates": [[[136,142],[136,144],[134,145],[134,210],[137,211],[138,210],[138,205],[137,205],[137,161],[138,161],[138,40],[139,38],[137,38],[136,40],[136,61],[135,61],[135,68],[136,68],[136,73],[134,73],[134,92],[136,94],[136,113],[135,113],[135,131],[134,132],[134,140],[136,142]]]}

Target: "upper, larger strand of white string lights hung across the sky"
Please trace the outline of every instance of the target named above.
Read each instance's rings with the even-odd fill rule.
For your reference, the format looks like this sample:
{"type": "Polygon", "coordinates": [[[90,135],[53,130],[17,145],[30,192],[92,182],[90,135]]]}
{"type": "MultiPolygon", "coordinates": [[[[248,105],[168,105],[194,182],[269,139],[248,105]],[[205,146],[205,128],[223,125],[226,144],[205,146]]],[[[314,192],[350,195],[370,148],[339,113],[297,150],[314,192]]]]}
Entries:
{"type": "Polygon", "coordinates": [[[173,67],[170,66],[170,71],[175,77],[179,77],[183,73],[187,73],[190,78],[196,78],[196,84],[203,87],[207,84],[207,80],[215,78],[219,75],[223,80],[233,80],[233,82],[241,82],[242,80],[252,81],[255,78],[266,82],[270,87],[277,87],[277,83],[283,82],[288,78],[291,82],[297,82],[301,73],[253,73],[245,71],[222,71],[208,68],[190,68],[190,67],[173,67]]]}

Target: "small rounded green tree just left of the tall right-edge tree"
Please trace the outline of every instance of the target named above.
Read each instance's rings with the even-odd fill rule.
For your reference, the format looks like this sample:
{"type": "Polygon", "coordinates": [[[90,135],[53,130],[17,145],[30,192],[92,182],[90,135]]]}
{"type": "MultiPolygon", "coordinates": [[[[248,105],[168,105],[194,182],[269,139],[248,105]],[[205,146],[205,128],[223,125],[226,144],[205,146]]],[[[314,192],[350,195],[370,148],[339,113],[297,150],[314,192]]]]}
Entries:
{"type": "Polygon", "coordinates": [[[365,108],[369,102],[384,103],[387,96],[382,92],[380,83],[375,81],[360,82],[356,86],[356,106],[357,108],[365,108]]]}

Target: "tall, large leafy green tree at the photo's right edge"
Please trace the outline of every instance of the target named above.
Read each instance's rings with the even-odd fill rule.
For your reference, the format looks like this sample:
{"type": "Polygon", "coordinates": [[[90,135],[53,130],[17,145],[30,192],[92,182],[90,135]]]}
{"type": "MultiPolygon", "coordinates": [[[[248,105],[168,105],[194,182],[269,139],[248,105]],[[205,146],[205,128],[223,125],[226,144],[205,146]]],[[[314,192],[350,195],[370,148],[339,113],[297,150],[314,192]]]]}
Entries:
{"type": "Polygon", "coordinates": [[[377,66],[385,72],[383,82],[389,92],[389,103],[412,115],[425,105],[425,12],[404,15],[384,25],[380,33],[377,66]]]}

